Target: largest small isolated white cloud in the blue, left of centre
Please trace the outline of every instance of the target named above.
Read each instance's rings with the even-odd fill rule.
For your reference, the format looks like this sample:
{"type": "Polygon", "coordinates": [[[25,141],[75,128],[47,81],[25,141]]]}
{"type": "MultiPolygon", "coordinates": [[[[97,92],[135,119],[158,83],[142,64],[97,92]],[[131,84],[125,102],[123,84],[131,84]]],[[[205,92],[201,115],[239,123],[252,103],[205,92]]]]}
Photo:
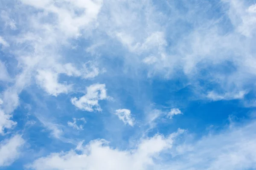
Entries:
{"type": "Polygon", "coordinates": [[[86,88],[87,93],[79,99],[71,99],[73,105],[84,111],[102,111],[99,106],[99,100],[107,99],[105,84],[93,84],[86,88]]]}

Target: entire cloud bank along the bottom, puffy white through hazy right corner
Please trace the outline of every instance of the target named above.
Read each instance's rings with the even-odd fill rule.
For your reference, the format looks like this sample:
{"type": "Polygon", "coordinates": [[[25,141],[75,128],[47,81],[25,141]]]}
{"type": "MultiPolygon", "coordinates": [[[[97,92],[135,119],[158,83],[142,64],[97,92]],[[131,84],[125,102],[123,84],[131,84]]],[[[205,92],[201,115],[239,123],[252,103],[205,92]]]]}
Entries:
{"type": "Polygon", "coordinates": [[[142,139],[135,147],[126,150],[111,148],[104,140],[95,140],[85,147],[79,144],[76,149],[81,151],[80,154],[75,150],[52,153],[28,167],[34,170],[255,169],[255,127],[256,123],[251,122],[184,143],[175,140],[175,136],[183,132],[178,130],[166,138],[155,135],[142,139]]]}

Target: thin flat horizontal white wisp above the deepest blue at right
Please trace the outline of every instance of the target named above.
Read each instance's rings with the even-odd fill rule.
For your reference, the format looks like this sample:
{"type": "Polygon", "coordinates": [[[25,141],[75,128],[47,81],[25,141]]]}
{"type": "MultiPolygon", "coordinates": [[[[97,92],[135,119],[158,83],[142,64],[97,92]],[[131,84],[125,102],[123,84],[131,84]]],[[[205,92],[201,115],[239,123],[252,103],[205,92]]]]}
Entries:
{"type": "Polygon", "coordinates": [[[213,101],[243,99],[245,94],[247,94],[246,91],[239,91],[238,93],[225,93],[225,94],[216,94],[214,91],[210,91],[207,94],[207,98],[212,99],[213,101]]]}

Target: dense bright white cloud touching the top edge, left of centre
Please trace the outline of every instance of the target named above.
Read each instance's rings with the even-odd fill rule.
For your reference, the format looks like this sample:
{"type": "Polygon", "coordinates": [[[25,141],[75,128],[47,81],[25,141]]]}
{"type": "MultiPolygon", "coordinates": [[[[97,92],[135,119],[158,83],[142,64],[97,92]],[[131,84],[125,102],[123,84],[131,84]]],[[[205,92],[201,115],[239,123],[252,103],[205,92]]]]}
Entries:
{"type": "Polygon", "coordinates": [[[57,5],[54,0],[21,1],[48,14],[54,14],[57,18],[55,27],[66,37],[79,36],[80,29],[97,18],[102,6],[102,0],[64,0],[61,5],[57,5]],[[76,14],[73,10],[77,8],[80,8],[80,14],[76,14]]]}

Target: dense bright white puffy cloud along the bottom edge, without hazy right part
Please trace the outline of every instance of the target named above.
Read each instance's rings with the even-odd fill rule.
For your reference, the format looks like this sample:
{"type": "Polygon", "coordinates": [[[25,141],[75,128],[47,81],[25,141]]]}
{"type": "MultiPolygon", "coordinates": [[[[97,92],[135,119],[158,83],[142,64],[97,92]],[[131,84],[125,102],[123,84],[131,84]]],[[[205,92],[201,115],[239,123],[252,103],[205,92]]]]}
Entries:
{"type": "Polygon", "coordinates": [[[142,139],[131,150],[118,150],[108,146],[105,140],[91,141],[87,146],[79,144],[81,154],[74,150],[66,153],[52,153],[28,165],[34,170],[145,170],[154,167],[159,154],[172,147],[173,139],[183,133],[173,133],[168,137],[155,135],[142,139]]]}

